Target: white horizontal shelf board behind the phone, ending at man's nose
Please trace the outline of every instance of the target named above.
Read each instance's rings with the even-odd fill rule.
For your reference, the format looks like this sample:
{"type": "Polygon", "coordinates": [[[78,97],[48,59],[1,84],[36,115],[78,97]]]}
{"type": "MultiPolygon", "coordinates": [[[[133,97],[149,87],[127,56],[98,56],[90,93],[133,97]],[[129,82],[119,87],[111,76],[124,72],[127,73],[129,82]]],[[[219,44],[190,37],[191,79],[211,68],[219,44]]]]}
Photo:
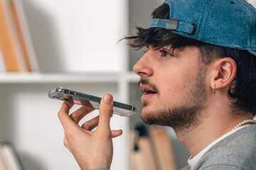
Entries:
{"type": "Polygon", "coordinates": [[[43,73],[1,73],[0,84],[30,83],[86,83],[86,82],[137,82],[139,76],[133,72],[123,74],[43,74],[43,73]]]}

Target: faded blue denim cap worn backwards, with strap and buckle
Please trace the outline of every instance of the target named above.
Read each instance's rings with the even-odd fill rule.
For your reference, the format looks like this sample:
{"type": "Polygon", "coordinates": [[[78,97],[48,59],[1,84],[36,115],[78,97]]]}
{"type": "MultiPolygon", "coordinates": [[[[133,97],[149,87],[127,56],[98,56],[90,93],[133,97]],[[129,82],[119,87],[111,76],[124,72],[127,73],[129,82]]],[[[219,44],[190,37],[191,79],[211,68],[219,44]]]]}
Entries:
{"type": "Polygon", "coordinates": [[[256,9],[244,0],[165,0],[170,18],[153,18],[166,28],[213,45],[248,50],[256,56],[256,9]]]}

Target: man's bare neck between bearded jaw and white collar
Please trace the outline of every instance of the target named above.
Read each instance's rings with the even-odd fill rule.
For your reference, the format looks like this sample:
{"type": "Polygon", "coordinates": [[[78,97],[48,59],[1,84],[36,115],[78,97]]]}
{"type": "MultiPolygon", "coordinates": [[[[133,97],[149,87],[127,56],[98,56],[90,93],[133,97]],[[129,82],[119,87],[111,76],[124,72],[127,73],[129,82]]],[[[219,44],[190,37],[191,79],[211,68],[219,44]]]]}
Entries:
{"type": "Polygon", "coordinates": [[[180,140],[191,152],[192,157],[201,152],[211,142],[225,135],[243,120],[252,119],[252,114],[234,116],[234,113],[225,114],[215,111],[198,120],[196,125],[186,130],[175,130],[180,140]]]}

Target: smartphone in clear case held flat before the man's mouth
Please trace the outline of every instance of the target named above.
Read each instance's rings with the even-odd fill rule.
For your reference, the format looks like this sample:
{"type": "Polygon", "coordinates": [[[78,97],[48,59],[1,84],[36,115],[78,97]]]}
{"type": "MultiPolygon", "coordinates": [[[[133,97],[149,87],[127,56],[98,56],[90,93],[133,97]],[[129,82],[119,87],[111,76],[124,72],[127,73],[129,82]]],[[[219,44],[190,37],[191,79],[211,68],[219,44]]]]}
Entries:
{"type": "MultiPolygon", "coordinates": [[[[97,96],[83,94],[79,91],[73,91],[63,87],[57,87],[56,89],[49,91],[48,96],[49,98],[58,99],[60,101],[68,101],[70,103],[75,103],[81,106],[87,106],[89,108],[95,109],[100,108],[100,101],[102,99],[97,96]]],[[[137,107],[114,101],[113,113],[127,117],[137,113],[137,107]]]]}

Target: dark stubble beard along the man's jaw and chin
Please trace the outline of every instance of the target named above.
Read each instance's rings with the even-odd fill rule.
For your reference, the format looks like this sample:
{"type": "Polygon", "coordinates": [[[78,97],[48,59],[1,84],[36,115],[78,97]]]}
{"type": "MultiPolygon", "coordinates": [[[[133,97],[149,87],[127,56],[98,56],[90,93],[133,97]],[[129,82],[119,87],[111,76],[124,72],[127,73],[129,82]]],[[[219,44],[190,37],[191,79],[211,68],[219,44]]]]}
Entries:
{"type": "MultiPolygon", "coordinates": [[[[168,108],[159,106],[142,114],[142,120],[148,125],[164,125],[174,130],[188,130],[200,122],[201,111],[206,103],[206,67],[201,66],[195,79],[186,83],[188,88],[183,93],[183,103],[180,106],[168,108]]],[[[146,107],[147,103],[142,103],[146,107]]]]}

